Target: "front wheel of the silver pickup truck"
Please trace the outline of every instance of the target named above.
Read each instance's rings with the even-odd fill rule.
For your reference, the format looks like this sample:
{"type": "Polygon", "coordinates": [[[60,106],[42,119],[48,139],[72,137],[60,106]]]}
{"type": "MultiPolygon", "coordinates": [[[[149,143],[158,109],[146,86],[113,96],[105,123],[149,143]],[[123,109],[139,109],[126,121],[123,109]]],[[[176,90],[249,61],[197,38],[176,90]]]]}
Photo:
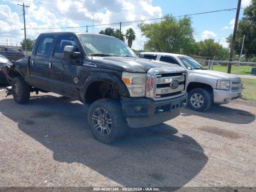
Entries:
{"type": "Polygon", "coordinates": [[[210,93],[203,88],[195,88],[188,92],[188,107],[195,111],[206,111],[212,104],[210,93]]]}

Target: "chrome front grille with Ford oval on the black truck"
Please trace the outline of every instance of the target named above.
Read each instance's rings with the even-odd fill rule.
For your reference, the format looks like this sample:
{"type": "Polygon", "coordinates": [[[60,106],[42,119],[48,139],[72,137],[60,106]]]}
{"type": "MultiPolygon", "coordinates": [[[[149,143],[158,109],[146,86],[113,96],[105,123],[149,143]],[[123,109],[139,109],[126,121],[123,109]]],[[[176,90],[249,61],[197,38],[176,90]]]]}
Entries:
{"type": "Polygon", "coordinates": [[[147,97],[164,100],[182,96],[186,92],[186,74],[186,70],[174,70],[172,67],[150,69],[147,73],[147,97]]]}

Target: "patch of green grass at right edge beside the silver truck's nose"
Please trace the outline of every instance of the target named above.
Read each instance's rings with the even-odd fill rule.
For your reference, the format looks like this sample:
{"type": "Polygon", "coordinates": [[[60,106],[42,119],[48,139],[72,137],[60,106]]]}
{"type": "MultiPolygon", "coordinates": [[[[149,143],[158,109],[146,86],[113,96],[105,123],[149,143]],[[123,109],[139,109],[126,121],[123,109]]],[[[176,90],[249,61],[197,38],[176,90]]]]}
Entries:
{"type": "Polygon", "coordinates": [[[256,104],[256,79],[242,78],[244,90],[242,90],[242,98],[238,101],[256,104]]]}

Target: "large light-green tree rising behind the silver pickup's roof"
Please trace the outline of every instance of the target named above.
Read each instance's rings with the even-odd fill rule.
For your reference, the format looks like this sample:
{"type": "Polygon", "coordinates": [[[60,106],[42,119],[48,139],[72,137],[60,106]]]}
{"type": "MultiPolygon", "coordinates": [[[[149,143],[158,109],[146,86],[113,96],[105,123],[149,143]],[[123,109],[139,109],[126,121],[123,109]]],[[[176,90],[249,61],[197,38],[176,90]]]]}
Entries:
{"type": "Polygon", "coordinates": [[[194,54],[196,44],[193,36],[194,29],[190,17],[177,20],[167,14],[161,22],[138,24],[142,35],[148,40],[145,50],[156,52],[170,52],[180,54],[194,54]]]}

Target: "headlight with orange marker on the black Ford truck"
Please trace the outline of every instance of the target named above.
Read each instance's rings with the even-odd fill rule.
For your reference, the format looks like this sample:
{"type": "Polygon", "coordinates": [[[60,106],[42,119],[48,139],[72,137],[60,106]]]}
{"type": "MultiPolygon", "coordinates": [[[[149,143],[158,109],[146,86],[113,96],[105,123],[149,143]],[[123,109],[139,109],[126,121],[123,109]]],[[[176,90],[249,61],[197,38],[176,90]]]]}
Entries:
{"type": "Polygon", "coordinates": [[[127,73],[123,72],[122,80],[126,84],[131,97],[144,97],[146,86],[145,73],[127,73]]]}

